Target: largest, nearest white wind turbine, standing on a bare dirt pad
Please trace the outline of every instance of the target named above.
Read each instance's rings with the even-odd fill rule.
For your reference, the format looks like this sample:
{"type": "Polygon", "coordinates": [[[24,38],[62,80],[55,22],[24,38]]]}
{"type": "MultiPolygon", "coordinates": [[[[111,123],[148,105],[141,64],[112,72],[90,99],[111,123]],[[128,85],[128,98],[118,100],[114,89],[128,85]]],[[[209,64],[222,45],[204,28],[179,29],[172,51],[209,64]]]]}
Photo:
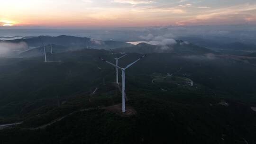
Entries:
{"type": "Polygon", "coordinates": [[[104,60],[103,58],[99,57],[102,61],[109,63],[110,65],[121,69],[122,71],[122,112],[125,113],[125,70],[128,69],[130,66],[132,66],[134,63],[137,63],[137,61],[139,61],[140,59],[144,58],[146,56],[143,55],[142,57],[140,57],[139,59],[137,59],[135,62],[128,64],[125,68],[119,67],[118,65],[114,64],[114,63],[110,63],[106,60],[104,60]]]}

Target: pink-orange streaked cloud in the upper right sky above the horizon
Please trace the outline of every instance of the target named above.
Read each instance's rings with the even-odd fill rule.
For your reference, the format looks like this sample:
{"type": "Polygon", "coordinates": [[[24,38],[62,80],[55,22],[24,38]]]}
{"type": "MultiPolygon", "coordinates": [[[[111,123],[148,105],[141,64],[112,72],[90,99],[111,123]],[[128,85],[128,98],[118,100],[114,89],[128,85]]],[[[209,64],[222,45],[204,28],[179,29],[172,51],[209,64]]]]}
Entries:
{"type": "Polygon", "coordinates": [[[177,25],[223,25],[230,23],[256,22],[256,4],[241,4],[221,9],[204,9],[196,15],[177,21],[177,25]]]}

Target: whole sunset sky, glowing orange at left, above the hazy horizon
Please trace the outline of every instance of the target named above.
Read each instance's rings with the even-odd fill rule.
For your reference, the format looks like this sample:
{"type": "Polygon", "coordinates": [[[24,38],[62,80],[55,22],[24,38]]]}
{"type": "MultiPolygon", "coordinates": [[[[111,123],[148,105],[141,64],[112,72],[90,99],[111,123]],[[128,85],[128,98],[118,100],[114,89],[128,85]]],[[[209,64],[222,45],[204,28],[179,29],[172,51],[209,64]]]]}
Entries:
{"type": "Polygon", "coordinates": [[[256,24],[256,0],[0,0],[0,26],[256,24]]]}

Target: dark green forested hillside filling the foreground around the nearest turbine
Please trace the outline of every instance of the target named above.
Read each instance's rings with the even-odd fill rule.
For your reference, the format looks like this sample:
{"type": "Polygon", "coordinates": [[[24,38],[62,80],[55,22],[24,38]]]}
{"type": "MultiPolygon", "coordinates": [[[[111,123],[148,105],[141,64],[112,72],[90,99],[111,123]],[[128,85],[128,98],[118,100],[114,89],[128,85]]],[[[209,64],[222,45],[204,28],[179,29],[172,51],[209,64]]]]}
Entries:
{"type": "MultiPolygon", "coordinates": [[[[84,49],[49,54],[61,62],[0,59],[0,124],[23,121],[0,130],[0,142],[256,142],[255,66],[218,55],[147,54],[126,71],[127,108],[134,114],[123,115],[114,107],[121,103],[115,69],[99,59],[114,63],[121,55],[84,49]]],[[[141,55],[129,53],[119,66],[141,55]]]]}

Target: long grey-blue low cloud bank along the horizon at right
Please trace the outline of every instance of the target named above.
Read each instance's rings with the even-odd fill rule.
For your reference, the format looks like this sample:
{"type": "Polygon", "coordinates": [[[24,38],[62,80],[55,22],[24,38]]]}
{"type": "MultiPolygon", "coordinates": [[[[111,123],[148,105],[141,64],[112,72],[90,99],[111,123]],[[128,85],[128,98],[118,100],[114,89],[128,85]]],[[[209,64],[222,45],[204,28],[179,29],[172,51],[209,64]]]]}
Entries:
{"type": "MultiPolygon", "coordinates": [[[[199,36],[203,39],[218,39],[217,37],[229,37],[230,42],[238,39],[255,39],[255,25],[219,25],[219,26],[165,26],[165,27],[146,27],[143,34],[139,34],[138,41],[146,40],[144,37],[150,34],[149,41],[161,41],[163,39],[173,38],[191,41],[184,37],[199,36]],[[244,34],[247,34],[245,36],[244,34]],[[144,36],[145,35],[145,36],[144,36]],[[154,36],[154,37],[153,37],[154,36]],[[153,38],[152,38],[153,37],[153,38]]],[[[148,40],[146,40],[148,41],[148,40]]],[[[198,42],[196,42],[198,43],[198,42]]]]}

